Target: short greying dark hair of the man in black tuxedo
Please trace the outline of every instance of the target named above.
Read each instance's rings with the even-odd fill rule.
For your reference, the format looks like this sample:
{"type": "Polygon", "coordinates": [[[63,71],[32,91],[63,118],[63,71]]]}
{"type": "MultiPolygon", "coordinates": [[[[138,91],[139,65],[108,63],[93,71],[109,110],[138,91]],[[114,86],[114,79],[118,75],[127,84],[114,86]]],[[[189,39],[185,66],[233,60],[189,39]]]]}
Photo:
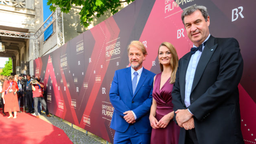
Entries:
{"type": "Polygon", "coordinates": [[[182,22],[183,22],[183,24],[185,24],[185,23],[184,23],[184,17],[187,16],[187,15],[190,15],[190,14],[194,13],[194,12],[197,11],[197,10],[201,11],[201,13],[202,13],[204,19],[205,19],[206,22],[207,22],[207,18],[208,18],[208,16],[209,16],[208,11],[207,11],[207,8],[204,7],[204,6],[192,5],[192,6],[188,7],[188,9],[185,9],[185,10],[182,12],[182,22]]]}

